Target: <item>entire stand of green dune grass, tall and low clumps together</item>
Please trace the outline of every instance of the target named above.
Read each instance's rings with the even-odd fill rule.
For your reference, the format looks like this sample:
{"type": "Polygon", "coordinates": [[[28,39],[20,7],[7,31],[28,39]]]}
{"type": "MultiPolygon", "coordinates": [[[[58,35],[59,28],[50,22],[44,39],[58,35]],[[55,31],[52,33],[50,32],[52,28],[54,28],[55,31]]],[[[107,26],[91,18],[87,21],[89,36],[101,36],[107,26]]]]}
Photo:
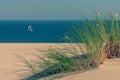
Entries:
{"type": "Polygon", "coordinates": [[[84,23],[84,26],[74,26],[71,34],[65,36],[70,48],[50,48],[45,51],[44,58],[34,55],[38,58],[34,64],[23,58],[23,63],[33,73],[23,80],[37,80],[58,73],[82,71],[98,67],[107,58],[120,57],[120,27],[117,13],[110,13],[105,17],[96,11],[93,20],[84,20],[84,23]],[[86,51],[80,45],[81,42],[85,45],[86,51]],[[71,43],[78,46],[83,54],[80,54],[71,43]]]}

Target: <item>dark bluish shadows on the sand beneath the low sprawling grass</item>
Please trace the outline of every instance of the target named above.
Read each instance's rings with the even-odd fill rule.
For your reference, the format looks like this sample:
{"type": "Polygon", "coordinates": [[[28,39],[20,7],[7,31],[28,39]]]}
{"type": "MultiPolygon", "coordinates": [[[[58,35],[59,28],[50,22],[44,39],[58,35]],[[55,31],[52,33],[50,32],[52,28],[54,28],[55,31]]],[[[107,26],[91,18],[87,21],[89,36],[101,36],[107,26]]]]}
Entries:
{"type": "MultiPolygon", "coordinates": [[[[86,54],[82,54],[82,55],[78,55],[78,56],[73,56],[73,57],[70,57],[71,59],[74,59],[74,60],[79,60],[79,61],[86,61],[87,58],[88,58],[88,55],[86,54]]],[[[59,73],[62,73],[63,71],[61,71],[59,68],[56,67],[56,65],[53,65],[49,68],[46,68],[45,70],[41,71],[40,73],[37,73],[33,76],[30,76],[30,77],[27,77],[27,78],[24,78],[22,80],[41,80],[42,78],[45,78],[45,77],[49,77],[49,76],[52,76],[52,75],[55,75],[55,74],[59,74],[59,73]]]]}

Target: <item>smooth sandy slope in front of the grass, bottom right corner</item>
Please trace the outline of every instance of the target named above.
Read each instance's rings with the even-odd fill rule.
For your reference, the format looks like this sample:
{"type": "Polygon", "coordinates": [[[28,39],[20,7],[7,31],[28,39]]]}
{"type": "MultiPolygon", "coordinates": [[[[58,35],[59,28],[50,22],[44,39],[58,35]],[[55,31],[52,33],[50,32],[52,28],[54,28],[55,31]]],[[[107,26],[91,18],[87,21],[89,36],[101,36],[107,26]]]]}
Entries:
{"type": "Polygon", "coordinates": [[[72,74],[59,80],[120,80],[120,59],[107,60],[98,69],[72,74]]]}

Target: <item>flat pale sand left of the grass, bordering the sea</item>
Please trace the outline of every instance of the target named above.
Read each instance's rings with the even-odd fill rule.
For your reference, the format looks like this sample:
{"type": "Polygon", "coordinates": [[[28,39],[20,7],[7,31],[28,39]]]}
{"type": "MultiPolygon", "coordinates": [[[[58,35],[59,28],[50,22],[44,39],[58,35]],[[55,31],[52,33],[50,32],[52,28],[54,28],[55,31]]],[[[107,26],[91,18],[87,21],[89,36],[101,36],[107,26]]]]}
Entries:
{"type": "Polygon", "coordinates": [[[33,56],[28,54],[39,54],[37,48],[44,50],[51,45],[56,46],[56,44],[52,43],[0,43],[0,80],[19,80],[24,75],[12,74],[14,71],[23,69],[23,67],[18,66],[19,62],[15,57],[16,54],[32,59],[33,56]]]}

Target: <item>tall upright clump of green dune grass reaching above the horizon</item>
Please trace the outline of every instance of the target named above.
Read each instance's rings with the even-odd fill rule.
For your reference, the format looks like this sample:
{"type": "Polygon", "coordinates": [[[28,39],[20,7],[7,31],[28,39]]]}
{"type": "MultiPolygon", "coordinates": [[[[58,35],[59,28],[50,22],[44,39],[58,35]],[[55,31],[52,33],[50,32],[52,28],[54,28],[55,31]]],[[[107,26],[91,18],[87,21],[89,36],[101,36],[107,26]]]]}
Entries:
{"type": "Polygon", "coordinates": [[[73,27],[71,42],[82,42],[86,45],[88,61],[98,67],[107,58],[120,57],[120,27],[118,14],[102,16],[95,12],[93,20],[85,20],[85,25],[73,27]]]}

